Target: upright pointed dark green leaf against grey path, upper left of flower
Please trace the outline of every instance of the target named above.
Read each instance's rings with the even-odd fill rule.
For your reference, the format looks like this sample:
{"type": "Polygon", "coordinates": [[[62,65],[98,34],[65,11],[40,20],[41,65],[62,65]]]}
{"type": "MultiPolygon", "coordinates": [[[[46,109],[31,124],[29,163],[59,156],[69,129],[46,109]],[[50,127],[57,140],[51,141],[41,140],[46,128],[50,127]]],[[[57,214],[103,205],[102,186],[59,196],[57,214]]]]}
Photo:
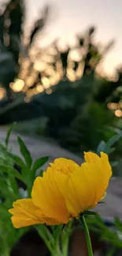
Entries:
{"type": "Polygon", "coordinates": [[[19,136],[17,139],[20,145],[20,153],[23,155],[25,163],[28,165],[29,168],[31,168],[31,164],[32,164],[31,153],[29,152],[28,148],[26,147],[23,140],[20,139],[19,136]]]}

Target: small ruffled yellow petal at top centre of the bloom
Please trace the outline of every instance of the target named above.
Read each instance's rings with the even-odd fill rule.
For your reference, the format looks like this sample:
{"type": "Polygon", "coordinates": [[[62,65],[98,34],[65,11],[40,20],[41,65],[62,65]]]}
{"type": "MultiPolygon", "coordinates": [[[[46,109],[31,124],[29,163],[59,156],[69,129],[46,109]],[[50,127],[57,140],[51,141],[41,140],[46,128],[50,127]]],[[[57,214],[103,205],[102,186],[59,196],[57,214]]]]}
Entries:
{"type": "Polygon", "coordinates": [[[54,160],[54,163],[50,163],[50,167],[47,168],[47,171],[56,170],[57,172],[64,173],[68,175],[72,173],[72,171],[78,167],[79,165],[76,164],[75,161],[66,158],[57,158],[54,160]]]}

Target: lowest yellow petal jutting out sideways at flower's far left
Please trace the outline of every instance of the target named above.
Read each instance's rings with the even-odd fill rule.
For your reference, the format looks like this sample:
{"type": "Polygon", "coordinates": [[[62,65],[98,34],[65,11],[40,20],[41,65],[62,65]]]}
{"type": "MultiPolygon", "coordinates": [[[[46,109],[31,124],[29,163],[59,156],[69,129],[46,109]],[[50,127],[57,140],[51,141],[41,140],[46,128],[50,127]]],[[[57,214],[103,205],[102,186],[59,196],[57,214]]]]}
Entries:
{"type": "Polygon", "coordinates": [[[9,213],[13,214],[11,219],[15,228],[43,223],[42,212],[34,206],[31,199],[17,200],[17,202],[13,202],[13,207],[9,210],[9,213]]]}

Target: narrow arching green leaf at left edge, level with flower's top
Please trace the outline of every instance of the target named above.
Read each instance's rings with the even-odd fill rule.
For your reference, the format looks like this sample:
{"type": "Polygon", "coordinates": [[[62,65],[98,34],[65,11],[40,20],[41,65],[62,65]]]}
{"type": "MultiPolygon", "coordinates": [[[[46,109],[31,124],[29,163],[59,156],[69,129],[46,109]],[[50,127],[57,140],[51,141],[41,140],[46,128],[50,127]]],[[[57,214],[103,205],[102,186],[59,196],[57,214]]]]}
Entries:
{"type": "Polygon", "coordinates": [[[19,180],[23,181],[22,176],[20,175],[19,172],[17,172],[16,169],[14,169],[13,167],[9,166],[9,165],[0,165],[0,172],[2,173],[8,173],[9,175],[15,176],[17,177],[19,180]]]}

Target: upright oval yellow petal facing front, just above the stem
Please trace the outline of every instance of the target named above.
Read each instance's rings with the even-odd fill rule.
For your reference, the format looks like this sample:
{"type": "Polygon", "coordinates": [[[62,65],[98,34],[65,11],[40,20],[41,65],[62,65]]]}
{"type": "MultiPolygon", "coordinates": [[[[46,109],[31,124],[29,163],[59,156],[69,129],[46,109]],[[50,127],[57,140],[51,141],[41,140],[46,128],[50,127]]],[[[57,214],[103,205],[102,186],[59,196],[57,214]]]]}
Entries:
{"type": "MultiPolygon", "coordinates": [[[[94,203],[94,186],[88,175],[92,167],[91,164],[84,163],[68,176],[65,185],[65,202],[72,217],[77,217],[79,213],[91,208],[94,203]]],[[[94,169],[98,167],[94,165],[94,169]]]]}

